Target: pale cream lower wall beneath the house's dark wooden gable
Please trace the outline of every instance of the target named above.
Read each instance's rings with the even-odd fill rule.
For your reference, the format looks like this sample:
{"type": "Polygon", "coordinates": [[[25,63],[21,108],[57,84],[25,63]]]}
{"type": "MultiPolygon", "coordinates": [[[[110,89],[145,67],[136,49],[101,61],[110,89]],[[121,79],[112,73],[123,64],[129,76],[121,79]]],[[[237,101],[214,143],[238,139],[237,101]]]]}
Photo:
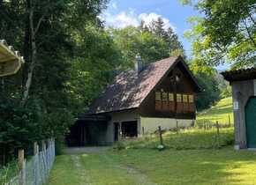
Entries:
{"type": "Polygon", "coordinates": [[[175,118],[156,118],[156,117],[140,117],[140,130],[144,130],[144,134],[154,133],[161,126],[162,130],[172,130],[177,128],[189,127],[193,120],[181,120],[175,118]]]}

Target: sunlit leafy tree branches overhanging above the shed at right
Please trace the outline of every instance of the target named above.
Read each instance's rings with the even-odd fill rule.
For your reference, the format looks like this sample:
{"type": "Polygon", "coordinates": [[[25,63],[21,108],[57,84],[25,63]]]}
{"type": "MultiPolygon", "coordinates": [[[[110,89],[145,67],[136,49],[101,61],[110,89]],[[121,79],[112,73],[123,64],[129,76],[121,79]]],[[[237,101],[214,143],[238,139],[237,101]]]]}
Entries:
{"type": "Polygon", "coordinates": [[[194,5],[203,15],[190,18],[193,52],[201,63],[217,66],[232,63],[234,68],[255,63],[256,4],[254,0],[202,0],[194,5]]]}

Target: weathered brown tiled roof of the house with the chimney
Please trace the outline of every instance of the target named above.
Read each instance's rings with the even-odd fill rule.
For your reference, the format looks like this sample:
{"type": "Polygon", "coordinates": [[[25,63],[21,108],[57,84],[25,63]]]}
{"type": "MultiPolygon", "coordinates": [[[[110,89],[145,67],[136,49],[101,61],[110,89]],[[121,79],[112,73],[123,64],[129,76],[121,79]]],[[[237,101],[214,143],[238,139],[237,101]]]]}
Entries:
{"type": "MultiPolygon", "coordinates": [[[[169,57],[148,64],[139,74],[135,70],[120,73],[115,78],[114,83],[109,85],[106,91],[94,101],[87,114],[100,114],[139,107],[154,89],[154,86],[169,73],[169,70],[177,62],[184,63],[180,56],[169,57]]],[[[188,72],[192,76],[189,70],[188,72]]],[[[196,83],[193,77],[192,80],[196,83]]],[[[196,83],[196,85],[198,84],[196,83]]]]}

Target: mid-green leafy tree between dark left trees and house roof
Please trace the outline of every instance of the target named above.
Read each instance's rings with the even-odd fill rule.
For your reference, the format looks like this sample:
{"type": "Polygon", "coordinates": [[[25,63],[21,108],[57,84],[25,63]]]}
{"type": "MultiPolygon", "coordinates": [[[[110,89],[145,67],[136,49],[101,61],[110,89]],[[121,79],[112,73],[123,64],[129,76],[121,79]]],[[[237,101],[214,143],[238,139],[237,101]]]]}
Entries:
{"type": "Polygon", "coordinates": [[[76,42],[68,89],[72,109],[81,114],[113,80],[123,61],[121,51],[102,27],[86,26],[76,42]]]}

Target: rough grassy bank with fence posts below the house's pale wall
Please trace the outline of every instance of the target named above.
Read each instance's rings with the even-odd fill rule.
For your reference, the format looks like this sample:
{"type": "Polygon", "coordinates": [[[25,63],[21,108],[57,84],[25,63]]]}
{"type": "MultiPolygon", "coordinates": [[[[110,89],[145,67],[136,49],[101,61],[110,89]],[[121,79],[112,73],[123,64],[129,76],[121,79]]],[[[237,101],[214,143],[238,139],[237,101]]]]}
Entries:
{"type": "MultiPolygon", "coordinates": [[[[179,130],[166,132],[162,135],[163,144],[167,149],[189,150],[189,149],[216,149],[233,144],[233,128],[220,129],[219,138],[215,128],[202,130],[193,128],[190,130],[179,130]]],[[[115,144],[117,149],[156,149],[160,144],[158,134],[137,139],[123,140],[115,144]]]]}

